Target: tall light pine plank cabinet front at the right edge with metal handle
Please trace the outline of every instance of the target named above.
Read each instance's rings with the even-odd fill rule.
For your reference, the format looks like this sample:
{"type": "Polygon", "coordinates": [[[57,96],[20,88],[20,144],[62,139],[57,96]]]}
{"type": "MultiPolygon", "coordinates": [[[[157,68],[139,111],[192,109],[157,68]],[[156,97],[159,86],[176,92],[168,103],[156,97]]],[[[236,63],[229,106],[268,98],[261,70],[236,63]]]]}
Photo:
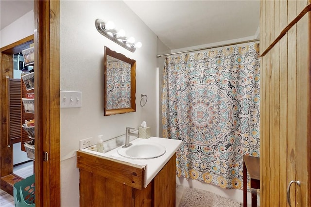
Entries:
{"type": "Polygon", "coordinates": [[[311,205],[310,15],[307,0],[260,2],[261,206],[311,205]],[[290,23],[297,17],[292,27],[290,23]],[[284,36],[279,36],[283,30],[284,36]]]}

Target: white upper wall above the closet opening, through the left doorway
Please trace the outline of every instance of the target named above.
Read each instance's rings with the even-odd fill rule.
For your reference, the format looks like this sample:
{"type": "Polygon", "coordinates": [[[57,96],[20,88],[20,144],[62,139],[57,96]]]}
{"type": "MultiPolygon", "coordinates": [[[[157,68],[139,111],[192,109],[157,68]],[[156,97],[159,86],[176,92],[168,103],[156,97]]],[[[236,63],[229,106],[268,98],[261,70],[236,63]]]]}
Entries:
{"type": "Polygon", "coordinates": [[[0,48],[34,34],[34,18],[34,10],[32,10],[3,28],[0,32],[0,48]]]}

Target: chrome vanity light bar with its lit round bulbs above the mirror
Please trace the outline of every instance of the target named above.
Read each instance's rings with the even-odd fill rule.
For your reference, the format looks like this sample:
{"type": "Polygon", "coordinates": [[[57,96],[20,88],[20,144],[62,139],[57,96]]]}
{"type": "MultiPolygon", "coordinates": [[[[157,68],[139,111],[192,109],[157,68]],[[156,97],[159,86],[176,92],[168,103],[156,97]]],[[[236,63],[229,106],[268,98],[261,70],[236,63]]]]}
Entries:
{"type": "Polygon", "coordinates": [[[114,23],[111,21],[105,23],[102,19],[96,19],[95,27],[99,33],[131,52],[135,52],[136,48],[141,48],[142,46],[141,42],[135,43],[134,37],[127,38],[124,30],[117,31],[114,28],[114,23]]]}

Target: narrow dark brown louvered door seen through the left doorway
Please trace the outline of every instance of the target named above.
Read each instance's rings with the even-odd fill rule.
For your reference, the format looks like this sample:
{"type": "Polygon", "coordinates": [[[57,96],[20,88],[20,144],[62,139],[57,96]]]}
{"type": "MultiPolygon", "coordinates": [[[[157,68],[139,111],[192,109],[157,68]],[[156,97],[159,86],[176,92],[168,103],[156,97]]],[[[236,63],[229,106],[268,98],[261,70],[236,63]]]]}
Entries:
{"type": "Polygon", "coordinates": [[[7,145],[20,142],[21,131],[21,99],[20,79],[6,78],[7,88],[7,145]]]}

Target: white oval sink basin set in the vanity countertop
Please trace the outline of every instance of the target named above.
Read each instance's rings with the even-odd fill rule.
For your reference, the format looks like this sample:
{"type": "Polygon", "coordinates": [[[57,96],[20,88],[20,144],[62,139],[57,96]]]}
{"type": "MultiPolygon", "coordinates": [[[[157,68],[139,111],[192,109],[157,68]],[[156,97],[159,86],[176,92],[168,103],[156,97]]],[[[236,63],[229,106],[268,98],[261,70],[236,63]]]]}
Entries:
{"type": "Polygon", "coordinates": [[[166,148],[158,143],[133,143],[118,149],[119,155],[130,159],[153,159],[164,155],[166,148]]]}

